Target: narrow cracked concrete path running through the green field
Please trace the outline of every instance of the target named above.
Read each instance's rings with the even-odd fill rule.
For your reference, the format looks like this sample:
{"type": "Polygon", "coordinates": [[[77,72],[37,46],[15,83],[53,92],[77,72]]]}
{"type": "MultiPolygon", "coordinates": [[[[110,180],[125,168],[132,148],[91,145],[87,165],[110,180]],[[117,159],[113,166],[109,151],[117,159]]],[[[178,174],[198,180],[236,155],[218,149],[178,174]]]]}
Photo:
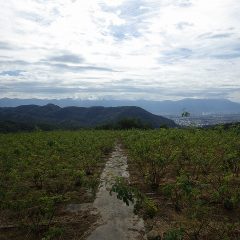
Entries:
{"type": "Polygon", "coordinates": [[[101,219],[87,240],[146,239],[144,222],[133,213],[133,205],[126,206],[114,193],[112,196],[109,194],[116,176],[129,177],[127,157],[120,145],[116,145],[102,172],[99,191],[93,203],[101,219]]]}

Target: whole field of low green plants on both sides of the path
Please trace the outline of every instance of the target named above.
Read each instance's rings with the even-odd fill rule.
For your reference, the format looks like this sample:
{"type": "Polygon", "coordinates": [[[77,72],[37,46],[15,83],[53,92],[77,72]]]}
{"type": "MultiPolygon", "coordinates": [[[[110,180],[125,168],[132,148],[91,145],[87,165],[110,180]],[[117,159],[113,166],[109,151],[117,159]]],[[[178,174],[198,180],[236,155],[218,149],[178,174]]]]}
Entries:
{"type": "Polygon", "coordinates": [[[240,239],[236,129],[54,131],[0,135],[0,239],[85,239],[109,154],[120,144],[148,239],[240,239]],[[85,205],[84,205],[85,204],[85,205]]]}

